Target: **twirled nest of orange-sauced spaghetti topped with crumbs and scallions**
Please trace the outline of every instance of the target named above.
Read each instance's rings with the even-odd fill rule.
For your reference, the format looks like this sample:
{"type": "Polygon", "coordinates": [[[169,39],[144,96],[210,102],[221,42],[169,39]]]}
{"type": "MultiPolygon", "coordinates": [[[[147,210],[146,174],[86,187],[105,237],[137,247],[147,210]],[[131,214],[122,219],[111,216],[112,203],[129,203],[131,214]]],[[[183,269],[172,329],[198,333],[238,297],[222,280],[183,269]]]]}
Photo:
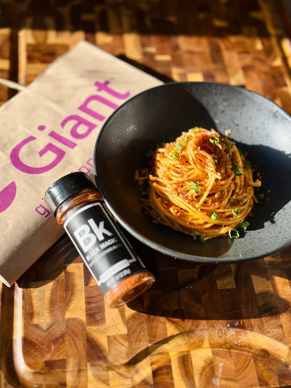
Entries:
{"type": "Polygon", "coordinates": [[[261,182],[253,181],[250,163],[213,129],[183,132],[151,159],[149,199],[143,206],[156,222],[179,232],[205,240],[225,235],[257,202],[253,187],[261,182]]]}

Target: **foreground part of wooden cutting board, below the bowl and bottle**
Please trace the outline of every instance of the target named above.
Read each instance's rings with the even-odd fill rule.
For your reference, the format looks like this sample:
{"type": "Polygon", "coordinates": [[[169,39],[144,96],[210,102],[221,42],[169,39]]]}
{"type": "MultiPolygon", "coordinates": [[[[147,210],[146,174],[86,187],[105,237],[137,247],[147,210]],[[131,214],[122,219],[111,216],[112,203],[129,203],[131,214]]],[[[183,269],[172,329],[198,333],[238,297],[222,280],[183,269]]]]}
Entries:
{"type": "Polygon", "coordinates": [[[291,383],[291,248],[239,264],[175,260],[134,241],[156,276],[111,310],[69,238],[2,286],[2,376],[34,387],[291,383]]]}

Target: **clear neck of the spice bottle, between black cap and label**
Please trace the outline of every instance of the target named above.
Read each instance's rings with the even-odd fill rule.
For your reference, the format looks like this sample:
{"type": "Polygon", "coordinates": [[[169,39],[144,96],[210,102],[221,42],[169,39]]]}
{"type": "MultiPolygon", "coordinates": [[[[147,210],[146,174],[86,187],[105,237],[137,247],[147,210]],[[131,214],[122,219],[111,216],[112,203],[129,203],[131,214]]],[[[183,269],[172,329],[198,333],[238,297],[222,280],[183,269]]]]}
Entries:
{"type": "Polygon", "coordinates": [[[57,222],[62,225],[64,218],[74,209],[91,201],[102,201],[99,191],[92,189],[83,189],[69,196],[62,202],[55,210],[55,218],[57,222]]]}

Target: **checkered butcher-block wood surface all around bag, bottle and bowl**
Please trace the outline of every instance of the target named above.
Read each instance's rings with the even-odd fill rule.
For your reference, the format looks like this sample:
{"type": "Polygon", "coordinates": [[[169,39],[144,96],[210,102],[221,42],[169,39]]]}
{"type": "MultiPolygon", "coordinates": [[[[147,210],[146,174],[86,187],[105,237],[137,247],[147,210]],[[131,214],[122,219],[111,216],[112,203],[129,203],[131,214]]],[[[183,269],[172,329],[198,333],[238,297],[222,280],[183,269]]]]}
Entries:
{"type": "MultiPolygon", "coordinates": [[[[0,76],[9,78],[16,55],[18,81],[29,84],[86,39],[163,79],[246,87],[291,113],[290,36],[275,10],[272,0],[7,0],[0,76]]],[[[0,103],[7,98],[0,87],[0,103]]],[[[1,388],[291,385],[291,248],[201,265],[129,239],[156,282],[118,310],[68,237],[2,286],[1,388]]]]}

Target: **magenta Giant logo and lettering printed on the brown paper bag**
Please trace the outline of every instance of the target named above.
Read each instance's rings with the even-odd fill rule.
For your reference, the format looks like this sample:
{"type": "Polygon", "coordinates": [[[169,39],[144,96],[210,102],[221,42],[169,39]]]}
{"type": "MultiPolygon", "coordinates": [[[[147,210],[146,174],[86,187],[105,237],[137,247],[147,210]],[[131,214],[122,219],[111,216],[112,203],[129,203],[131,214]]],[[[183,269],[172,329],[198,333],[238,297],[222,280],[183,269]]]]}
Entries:
{"type": "MultiPolygon", "coordinates": [[[[130,92],[122,94],[117,90],[114,90],[113,88],[109,87],[109,83],[110,81],[105,81],[103,83],[96,81],[94,83],[94,86],[97,88],[97,92],[101,92],[102,94],[106,93],[120,100],[124,100],[130,96],[130,92]]],[[[89,96],[77,109],[79,113],[82,112],[83,114],[90,116],[91,118],[97,119],[99,121],[104,121],[106,116],[103,116],[98,112],[98,106],[100,104],[107,105],[107,107],[111,109],[118,108],[118,105],[114,102],[107,100],[101,95],[94,94],[89,96]]],[[[86,138],[97,127],[97,124],[92,123],[85,117],[79,116],[78,114],[71,114],[70,116],[64,118],[64,120],[62,120],[62,122],[60,123],[61,128],[64,130],[63,134],[55,131],[50,131],[49,133],[47,133],[47,131],[43,132],[46,129],[46,126],[39,125],[38,130],[42,132],[40,137],[43,137],[43,135],[49,136],[52,142],[47,142],[47,144],[42,149],[40,149],[40,151],[38,151],[39,149],[36,149],[37,142],[34,142],[34,140],[37,139],[35,136],[29,136],[26,139],[23,139],[19,144],[16,145],[16,147],[12,149],[10,153],[10,161],[12,165],[17,168],[17,170],[22,171],[26,174],[42,174],[51,170],[62,161],[62,159],[66,155],[66,152],[68,152],[68,148],[74,149],[78,145],[79,140],[81,141],[81,139],[86,138]],[[71,123],[72,121],[73,123],[71,123]],[[68,123],[71,123],[71,125],[69,125],[68,123]],[[71,139],[68,139],[68,135],[73,137],[76,142],[72,141],[71,139]],[[59,147],[57,147],[57,145],[55,145],[54,143],[57,143],[59,147]],[[31,155],[29,155],[29,159],[32,159],[31,156],[33,156],[33,161],[31,162],[21,160],[21,154],[23,154],[23,151],[25,149],[28,151],[28,144],[30,146],[33,145],[35,148],[35,151],[31,155]],[[49,152],[49,155],[51,155],[50,163],[40,167],[39,165],[43,164],[40,158],[42,158],[43,155],[47,154],[47,152],[49,152]],[[26,163],[29,163],[29,165],[26,163]],[[32,165],[30,165],[30,163],[32,165]]],[[[26,152],[26,154],[28,154],[28,152],[26,152]]],[[[92,161],[92,159],[89,159],[87,161],[87,164],[89,166],[92,166],[89,161],[92,161]]],[[[84,170],[87,173],[90,171],[87,166],[82,166],[79,168],[79,171],[84,170]]],[[[12,204],[15,196],[16,184],[15,182],[11,182],[2,191],[0,191],[0,213],[2,213],[12,204]]],[[[37,211],[37,213],[44,216],[45,218],[50,215],[50,211],[42,204],[37,206],[35,210],[37,211]]]]}

